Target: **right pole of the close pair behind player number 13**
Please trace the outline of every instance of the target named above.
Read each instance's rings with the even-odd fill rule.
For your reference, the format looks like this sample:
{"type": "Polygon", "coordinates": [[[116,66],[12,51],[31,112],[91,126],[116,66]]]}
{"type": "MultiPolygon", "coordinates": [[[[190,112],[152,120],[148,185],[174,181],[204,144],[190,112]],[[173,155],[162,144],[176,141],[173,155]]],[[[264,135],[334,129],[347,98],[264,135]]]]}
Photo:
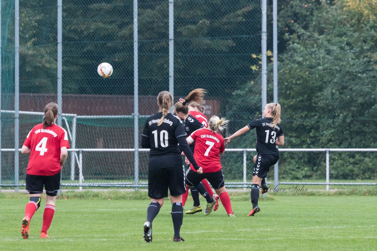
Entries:
{"type": "MultiPolygon", "coordinates": [[[[273,0],[274,103],[277,103],[277,0],[273,0]]],[[[276,146],[277,147],[277,146],[276,146]]],[[[274,165],[274,187],[279,185],[279,162],[274,165]]]]}

